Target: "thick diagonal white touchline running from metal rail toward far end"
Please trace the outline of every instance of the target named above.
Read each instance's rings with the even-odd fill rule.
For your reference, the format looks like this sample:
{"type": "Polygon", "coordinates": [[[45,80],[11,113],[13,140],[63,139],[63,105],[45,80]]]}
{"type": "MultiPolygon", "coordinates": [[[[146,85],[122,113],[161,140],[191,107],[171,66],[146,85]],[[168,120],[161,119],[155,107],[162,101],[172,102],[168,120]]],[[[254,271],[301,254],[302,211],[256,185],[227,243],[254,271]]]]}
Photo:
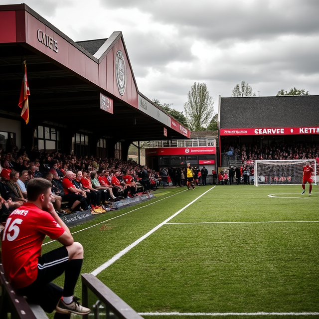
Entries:
{"type": "Polygon", "coordinates": [[[199,199],[201,196],[205,195],[207,192],[209,192],[211,189],[213,189],[215,186],[211,187],[210,189],[206,190],[204,193],[202,193],[200,196],[198,196],[197,198],[195,198],[193,201],[191,201],[189,204],[187,204],[186,206],[184,206],[183,208],[181,208],[180,210],[178,210],[176,213],[174,213],[173,215],[171,215],[170,217],[168,217],[166,220],[164,220],[163,222],[161,222],[159,225],[157,225],[156,227],[154,227],[152,230],[150,230],[147,234],[143,235],[142,237],[140,237],[138,240],[136,240],[134,243],[132,243],[131,245],[129,245],[128,247],[124,248],[122,251],[120,251],[118,254],[116,254],[115,256],[113,256],[111,259],[109,259],[106,263],[104,263],[103,265],[101,265],[100,267],[98,267],[96,270],[94,270],[91,274],[94,276],[97,276],[99,273],[101,273],[103,270],[105,270],[106,268],[108,268],[109,266],[111,266],[114,262],[116,262],[118,259],[120,259],[122,256],[124,256],[127,252],[129,252],[132,248],[134,248],[135,246],[137,246],[140,242],[142,242],[144,239],[146,239],[147,237],[149,237],[151,234],[153,234],[155,231],[157,231],[161,226],[165,225],[169,220],[171,220],[172,218],[174,218],[175,216],[177,216],[180,212],[182,212],[184,209],[186,209],[188,206],[190,206],[191,204],[193,204],[197,199],[199,199]]]}

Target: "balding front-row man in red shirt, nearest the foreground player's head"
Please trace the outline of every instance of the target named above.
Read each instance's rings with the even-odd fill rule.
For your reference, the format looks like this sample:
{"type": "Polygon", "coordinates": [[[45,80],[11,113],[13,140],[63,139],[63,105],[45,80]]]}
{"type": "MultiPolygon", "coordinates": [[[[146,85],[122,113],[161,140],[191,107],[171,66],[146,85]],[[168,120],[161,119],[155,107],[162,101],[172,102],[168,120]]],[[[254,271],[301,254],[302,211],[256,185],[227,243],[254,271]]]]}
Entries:
{"type": "Polygon", "coordinates": [[[81,206],[79,210],[87,210],[88,204],[84,197],[84,191],[75,187],[73,184],[73,172],[66,171],[65,177],[62,180],[64,199],[69,202],[70,210],[74,211],[77,206],[81,206]]]}

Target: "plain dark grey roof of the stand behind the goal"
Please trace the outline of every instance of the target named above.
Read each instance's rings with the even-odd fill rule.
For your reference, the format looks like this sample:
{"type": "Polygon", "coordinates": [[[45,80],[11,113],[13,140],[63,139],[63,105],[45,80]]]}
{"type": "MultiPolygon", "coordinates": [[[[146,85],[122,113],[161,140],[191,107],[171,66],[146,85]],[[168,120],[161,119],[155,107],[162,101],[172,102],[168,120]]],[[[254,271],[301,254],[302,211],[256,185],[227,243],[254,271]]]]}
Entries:
{"type": "Polygon", "coordinates": [[[220,99],[220,128],[318,127],[319,95],[220,99]]]}

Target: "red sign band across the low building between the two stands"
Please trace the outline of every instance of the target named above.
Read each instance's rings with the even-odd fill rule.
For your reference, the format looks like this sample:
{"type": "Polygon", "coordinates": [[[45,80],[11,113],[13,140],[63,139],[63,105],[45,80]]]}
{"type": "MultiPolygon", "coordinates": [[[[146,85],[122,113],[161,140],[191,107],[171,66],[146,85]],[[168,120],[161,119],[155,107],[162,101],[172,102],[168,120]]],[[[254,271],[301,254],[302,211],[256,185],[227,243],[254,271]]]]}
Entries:
{"type": "Polygon", "coordinates": [[[204,155],[204,154],[216,154],[216,147],[203,146],[195,148],[157,148],[146,149],[146,156],[155,155],[204,155]]]}

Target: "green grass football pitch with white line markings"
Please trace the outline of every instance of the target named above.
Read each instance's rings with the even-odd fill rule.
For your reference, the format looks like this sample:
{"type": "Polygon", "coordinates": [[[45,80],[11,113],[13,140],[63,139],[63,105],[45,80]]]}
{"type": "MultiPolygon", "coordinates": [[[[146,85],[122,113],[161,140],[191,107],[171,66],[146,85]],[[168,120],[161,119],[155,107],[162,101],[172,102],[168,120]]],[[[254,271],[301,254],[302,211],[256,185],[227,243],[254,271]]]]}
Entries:
{"type": "MultiPolygon", "coordinates": [[[[82,273],[148,319],[319,318],[319,189],[308,187],[159,189],[71,228],[82,273]]],[[[43,253],[58,246],[47,239],[43,253]]]]}

